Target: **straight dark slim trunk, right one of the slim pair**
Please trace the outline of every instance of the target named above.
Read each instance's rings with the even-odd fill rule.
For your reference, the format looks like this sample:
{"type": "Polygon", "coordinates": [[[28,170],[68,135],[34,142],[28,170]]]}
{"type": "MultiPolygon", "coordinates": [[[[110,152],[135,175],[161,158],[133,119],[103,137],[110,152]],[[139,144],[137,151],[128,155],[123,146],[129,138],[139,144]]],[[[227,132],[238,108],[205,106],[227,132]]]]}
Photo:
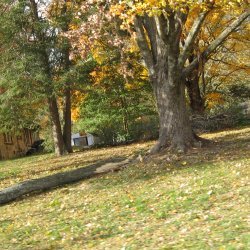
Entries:
{"type": "Polygon", "coordinates": [[[65,89],[64,94],[65,102],[64,102],[64,110],[63,110],[63,118],[64,118],[64,125],[63,125],[63,140],[65,144],[65,148],[68,153],[72,153],[72,146],[71,146],[71,91],[70,88],[67,87],[65,89]]]}

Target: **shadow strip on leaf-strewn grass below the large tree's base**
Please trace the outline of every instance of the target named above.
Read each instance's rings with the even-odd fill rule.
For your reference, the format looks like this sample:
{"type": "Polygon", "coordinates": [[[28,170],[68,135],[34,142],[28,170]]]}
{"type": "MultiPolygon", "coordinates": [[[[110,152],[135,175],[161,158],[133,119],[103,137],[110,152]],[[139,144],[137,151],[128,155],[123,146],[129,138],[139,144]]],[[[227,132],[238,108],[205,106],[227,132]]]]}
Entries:
{"type": "Polygon", "coordinates": [[[116,185],[131,184],[166,175],[178,175],[182,172],[200,174],[209,169],[219,170],[225,166],[233,166],[234,162],[246,160],[250,162],[250,138],[238,138],[234,135],[225,135],[223,139],[211,143],[206,148],[193,149],[186,155],[166,153],[150,160],[129,166],[125,170],[114,173],[111,177],[105,176],[98,181],[94,178],[96,189],[112,188],[116,185]],[[113,178],[112,178],[113,177],[113,178]]]}

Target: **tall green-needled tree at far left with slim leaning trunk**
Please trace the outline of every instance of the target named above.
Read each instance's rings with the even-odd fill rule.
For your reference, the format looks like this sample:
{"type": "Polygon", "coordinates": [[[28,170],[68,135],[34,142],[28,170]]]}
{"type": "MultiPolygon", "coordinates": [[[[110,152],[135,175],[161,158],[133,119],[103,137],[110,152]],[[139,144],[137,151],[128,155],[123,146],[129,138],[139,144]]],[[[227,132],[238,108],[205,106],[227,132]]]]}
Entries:
{"type": "MultiPolygon", "coordinates": [[[[65,127],[69,127],[65,129],[67,133],[65,141],[68,146],[66,149],[71,152],[68,143],[68,138],[71,137],[71,117],[68,111],[70,110],[70,101],[68,101],[70,91],[66,91],[68,87],[65,82],[58,81],[60,74],[69,70],[69,45],[60,37],[63,27],[51,23],[47,12],[48,4],[44,1],[20,0],[8,3],[5,0],[1,1],[1,5],[5,7],[1,15],[3,25],[0,30],[3,37],[1,41],[3,48],[1,85],[8,91],[15,91],[18,88],[21,89],[22,84],[26,83],[28,91],[33,93],[33,96],[47,102],[57,155],[65,152],[58,107],[58,96],[64,89],[69,113],[65,116],[64,122],[67,124],[65,127]],[[15,69],[18,67],[17,73],[15,69]],[[18,76],[20,83],[13,85],[12,88],[6,83],[6,79],[11,75],[18,76]]],[[[25,100],[25,95],[19,96],[19,99],[25,100]]]]}

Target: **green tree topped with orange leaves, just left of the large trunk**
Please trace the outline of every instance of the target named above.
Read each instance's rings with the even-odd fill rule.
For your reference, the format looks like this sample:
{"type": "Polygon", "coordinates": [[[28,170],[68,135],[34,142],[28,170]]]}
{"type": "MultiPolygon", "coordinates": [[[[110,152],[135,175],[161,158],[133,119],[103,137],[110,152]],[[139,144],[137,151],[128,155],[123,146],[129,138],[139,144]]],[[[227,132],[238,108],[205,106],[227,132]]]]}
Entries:
{"type": "Polygon", "coordinates": [[[132,52],[129,63],[133,65],[133,77],[128,73],[124,77],[124,62],[105,56],[110,54],[115,55],[107,48],[105,53],[104,50],[95,53],[99,63],[90,73],[92,85],[86,89],[80,105],[78,131],[97,133],[109,145],[154,137],[157,115],[146,70],[132,52]]]}

